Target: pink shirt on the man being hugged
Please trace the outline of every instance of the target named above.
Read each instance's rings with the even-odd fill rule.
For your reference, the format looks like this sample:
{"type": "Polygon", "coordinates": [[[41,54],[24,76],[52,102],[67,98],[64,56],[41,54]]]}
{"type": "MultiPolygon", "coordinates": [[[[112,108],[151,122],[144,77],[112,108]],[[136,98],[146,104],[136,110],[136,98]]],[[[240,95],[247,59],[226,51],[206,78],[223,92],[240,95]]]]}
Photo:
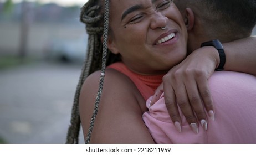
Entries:
{"type": "MultiPolygon", "coordinates": [[[[156,143],[256,143],[256,77],[232,71],[216,71],[209,79],[215,120],[208,129],[199,125],[195,134],[182,115],[179,133],[167,112],[164,95],[143,120],[156,143]]],[[[149,107],[151,97],[146,105],[149,107]]],[[[181,112],[180,112],[181,113],[181,112]]]]}

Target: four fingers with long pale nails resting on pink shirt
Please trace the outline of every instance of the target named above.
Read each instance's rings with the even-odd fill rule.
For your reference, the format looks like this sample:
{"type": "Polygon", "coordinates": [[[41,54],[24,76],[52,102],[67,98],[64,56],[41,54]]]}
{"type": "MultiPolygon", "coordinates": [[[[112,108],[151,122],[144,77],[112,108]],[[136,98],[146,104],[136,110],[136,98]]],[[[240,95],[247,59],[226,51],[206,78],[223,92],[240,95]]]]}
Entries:
{"type": "Polygon", "coordinates": [[[199,84],[201,85],[198,86],[193,77],[187,76],[185,80],[177,77],[178,76],[165,76],[163,80],[168,81],[164,82],[164,92],[165,102],[171,120],[174,123],[181,122],[181,117],[178,112],[179,106],[194,133],[198,133],[198,122],[204,130],[207,130],[208,120],[202,101],[203,97],[204,101],[207,103],[205,105],[206,110],[209,111],[209,116],[211,117],[212,115],[212,118],[214,118],[212,98],[211,95],[206,93],[209,92],[208,80],[203,81],[199,79],[199,84]],[[202,92],[204,92],[204,96],[202,95],[202,92]]]}

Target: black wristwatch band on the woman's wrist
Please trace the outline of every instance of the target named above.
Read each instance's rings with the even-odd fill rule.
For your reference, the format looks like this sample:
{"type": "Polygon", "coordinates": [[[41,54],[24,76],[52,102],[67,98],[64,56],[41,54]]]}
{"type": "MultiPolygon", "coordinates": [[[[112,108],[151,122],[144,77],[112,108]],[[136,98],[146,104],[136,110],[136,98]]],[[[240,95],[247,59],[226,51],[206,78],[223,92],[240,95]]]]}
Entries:
{"type": "Polygon", "coordinates": [[[211,40],[209,42],[204,42],[201,44],[201,47],[203,46],[214,46],[214,48],[216,48],[218,50],[219,53],[219,66],[215,69],[215,70],[223,70],[223,67],[226,63],[226,55],[224,53],[224,48],[221,44],[221,42],[219,42],[219,40],[211,40]]]}

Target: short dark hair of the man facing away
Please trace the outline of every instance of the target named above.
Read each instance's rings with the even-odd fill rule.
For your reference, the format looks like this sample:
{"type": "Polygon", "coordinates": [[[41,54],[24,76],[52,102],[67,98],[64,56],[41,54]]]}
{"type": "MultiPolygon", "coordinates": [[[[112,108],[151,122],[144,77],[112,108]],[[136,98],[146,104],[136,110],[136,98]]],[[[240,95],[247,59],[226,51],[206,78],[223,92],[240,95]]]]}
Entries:
{"type": "Polygon", "coordinates": [[[250,35],[256,24],[255,0],[175,0],[174,2],[181,13],[186,8],[191,8],[196,18],[200,18],[203,27],[213,33],[220,31],[223,34],[250,35]]]}

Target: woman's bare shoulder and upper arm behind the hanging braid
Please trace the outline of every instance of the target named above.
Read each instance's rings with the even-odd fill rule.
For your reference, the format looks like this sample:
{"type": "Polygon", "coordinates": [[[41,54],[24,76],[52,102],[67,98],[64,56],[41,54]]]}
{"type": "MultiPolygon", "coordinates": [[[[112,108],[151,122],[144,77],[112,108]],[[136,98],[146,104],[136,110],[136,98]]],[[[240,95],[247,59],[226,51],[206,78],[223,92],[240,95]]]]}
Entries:
{"type": "MultiPolygon", "coordinates": [[[[100,72],[90,75],[80,94],[79,111],[86,138],[93,115],[100,72]]],[[[130,79],[106,70],[103,93],[90,143],[154,143],[142,121],[145,100],[130,79]]]]}

